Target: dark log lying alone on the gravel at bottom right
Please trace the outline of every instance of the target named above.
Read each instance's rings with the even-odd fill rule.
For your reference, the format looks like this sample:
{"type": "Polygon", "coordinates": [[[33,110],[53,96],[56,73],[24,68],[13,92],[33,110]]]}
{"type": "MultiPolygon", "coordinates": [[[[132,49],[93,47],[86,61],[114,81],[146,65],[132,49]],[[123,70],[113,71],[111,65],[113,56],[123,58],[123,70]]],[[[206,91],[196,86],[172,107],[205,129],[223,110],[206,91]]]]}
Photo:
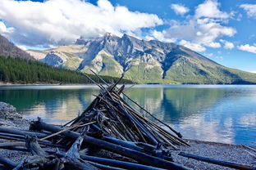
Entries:
{"type": "Polygon", "coordinates": [[[213,163],[213,164],[221,165],[223,167],[242,169],[242,170],[256,170],[256,168],[250,167],[248,165],[238,164],[238,163],[231,163],[231,162],[226,162],[226,161],[217,160],[217,159],[210,159],[210,158],[199,156],[199,155],[196,155],[196,154],[189,154],[189,153],[181,152],[179,155],[181,155],[183,157],[186,157],[186,158],[203,161],[203,162],[206,162],[206,163],[213,163]]]}

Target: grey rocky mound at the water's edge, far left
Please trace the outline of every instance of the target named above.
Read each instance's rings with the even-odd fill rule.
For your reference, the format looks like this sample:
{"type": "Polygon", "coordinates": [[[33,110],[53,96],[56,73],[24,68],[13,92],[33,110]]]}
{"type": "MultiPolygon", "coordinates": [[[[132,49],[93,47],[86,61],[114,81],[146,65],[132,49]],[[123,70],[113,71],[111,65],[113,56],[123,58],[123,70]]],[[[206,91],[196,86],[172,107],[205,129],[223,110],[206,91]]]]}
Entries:
{"type": "Polygon", "coordinates": [[[13,105],[0,102],[0,119],[22,119],[22,116],[17,113],[16,108],[13,105]]]}

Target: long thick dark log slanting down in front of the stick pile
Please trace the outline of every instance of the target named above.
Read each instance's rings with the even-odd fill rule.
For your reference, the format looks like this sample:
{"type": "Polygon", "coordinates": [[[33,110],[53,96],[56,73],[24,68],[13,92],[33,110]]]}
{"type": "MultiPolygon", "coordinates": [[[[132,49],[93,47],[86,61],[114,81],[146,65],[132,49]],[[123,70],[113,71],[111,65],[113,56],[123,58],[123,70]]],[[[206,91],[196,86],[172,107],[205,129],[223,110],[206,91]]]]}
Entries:
{"type": "MultiPolygon", "coordinates": [[[[31,125],[34,126],[34,128],[39,128],[46,130],[48,132],[59,132],[62,131],[62,128],[48,124],[48,123],[43,123],[41,121],[37,121],[32,123],[31,125]]],[[[71,131],[66,131],[62,133],[64,136],[71,137],[73,139],[76,139],[77,137],[80,136],[79,133],[77,132],[71,132],[71,131]]],[[[130,150],[128,148],[122,147],[121,145],[115,145],[112,143],[109,143],[107,141],[99,140],[91,136],[84,136],[84,141],[89,144],[89,145],[95,145],[98,148],[102,148],[104,150],[109,150],[117,154],[124,155],[130,159],[135,159],[139,161],[139,163],[144,163],[147,165],[151,165],[153,167],[158,167],[158,168],[166,168],[166,169],[189,169],[185,168],[184,166],[177,164],[177,163],[171,163],[167,160],[164,159],[159,159],[157,157],[150,156],[148,154],[141,153],[137,150],[130,150]]]]}

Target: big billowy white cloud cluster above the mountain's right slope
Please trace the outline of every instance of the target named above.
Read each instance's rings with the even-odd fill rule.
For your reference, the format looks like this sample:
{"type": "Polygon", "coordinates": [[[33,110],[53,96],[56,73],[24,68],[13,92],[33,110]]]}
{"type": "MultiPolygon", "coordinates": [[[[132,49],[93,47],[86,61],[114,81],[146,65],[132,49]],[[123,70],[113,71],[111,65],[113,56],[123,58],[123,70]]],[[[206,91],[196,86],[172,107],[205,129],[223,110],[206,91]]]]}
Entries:
{"type": "Polygon", "coordinates": [[[197,44],[193,47],[198,51],[203,51],[205,47],[219,48],[222,45],[217,42],[218,38],[232,37],[236,34],[235,28],[226,26],[231,16],[232,12],[220,10],[220,3],[217,1],[206,0],[195,7],[194,16],[187,16],[184,21],[171,20],[164,37],[183,39],[187,47],[190,44],[197,44]]]}

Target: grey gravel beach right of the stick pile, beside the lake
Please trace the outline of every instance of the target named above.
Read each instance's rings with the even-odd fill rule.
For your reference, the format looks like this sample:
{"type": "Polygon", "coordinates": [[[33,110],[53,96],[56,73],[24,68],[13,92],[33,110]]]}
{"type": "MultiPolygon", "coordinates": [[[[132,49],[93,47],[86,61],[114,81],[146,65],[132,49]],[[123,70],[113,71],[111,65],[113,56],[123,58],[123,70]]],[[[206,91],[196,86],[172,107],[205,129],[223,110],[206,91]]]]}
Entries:
{"type": "Polygon", "coordinates": [[[176,150],[172,152],[172,157],[176,163],[181,163],[189,168],[202,170],[233,169],[214,165],[213,163],[203,163],[202,161],[188,159],[178,155],[182,151],[185,153],[197,154],[199,156],[218,159],[222,161],[245,164],[256,168],[256,159],[249,155],[245,150],[252,153],[254,151],[248,150],[242,145],[229,145],[209,141],[187,141],[189,142],[190,146],[179,146],[181,150],[176,150]]]}

